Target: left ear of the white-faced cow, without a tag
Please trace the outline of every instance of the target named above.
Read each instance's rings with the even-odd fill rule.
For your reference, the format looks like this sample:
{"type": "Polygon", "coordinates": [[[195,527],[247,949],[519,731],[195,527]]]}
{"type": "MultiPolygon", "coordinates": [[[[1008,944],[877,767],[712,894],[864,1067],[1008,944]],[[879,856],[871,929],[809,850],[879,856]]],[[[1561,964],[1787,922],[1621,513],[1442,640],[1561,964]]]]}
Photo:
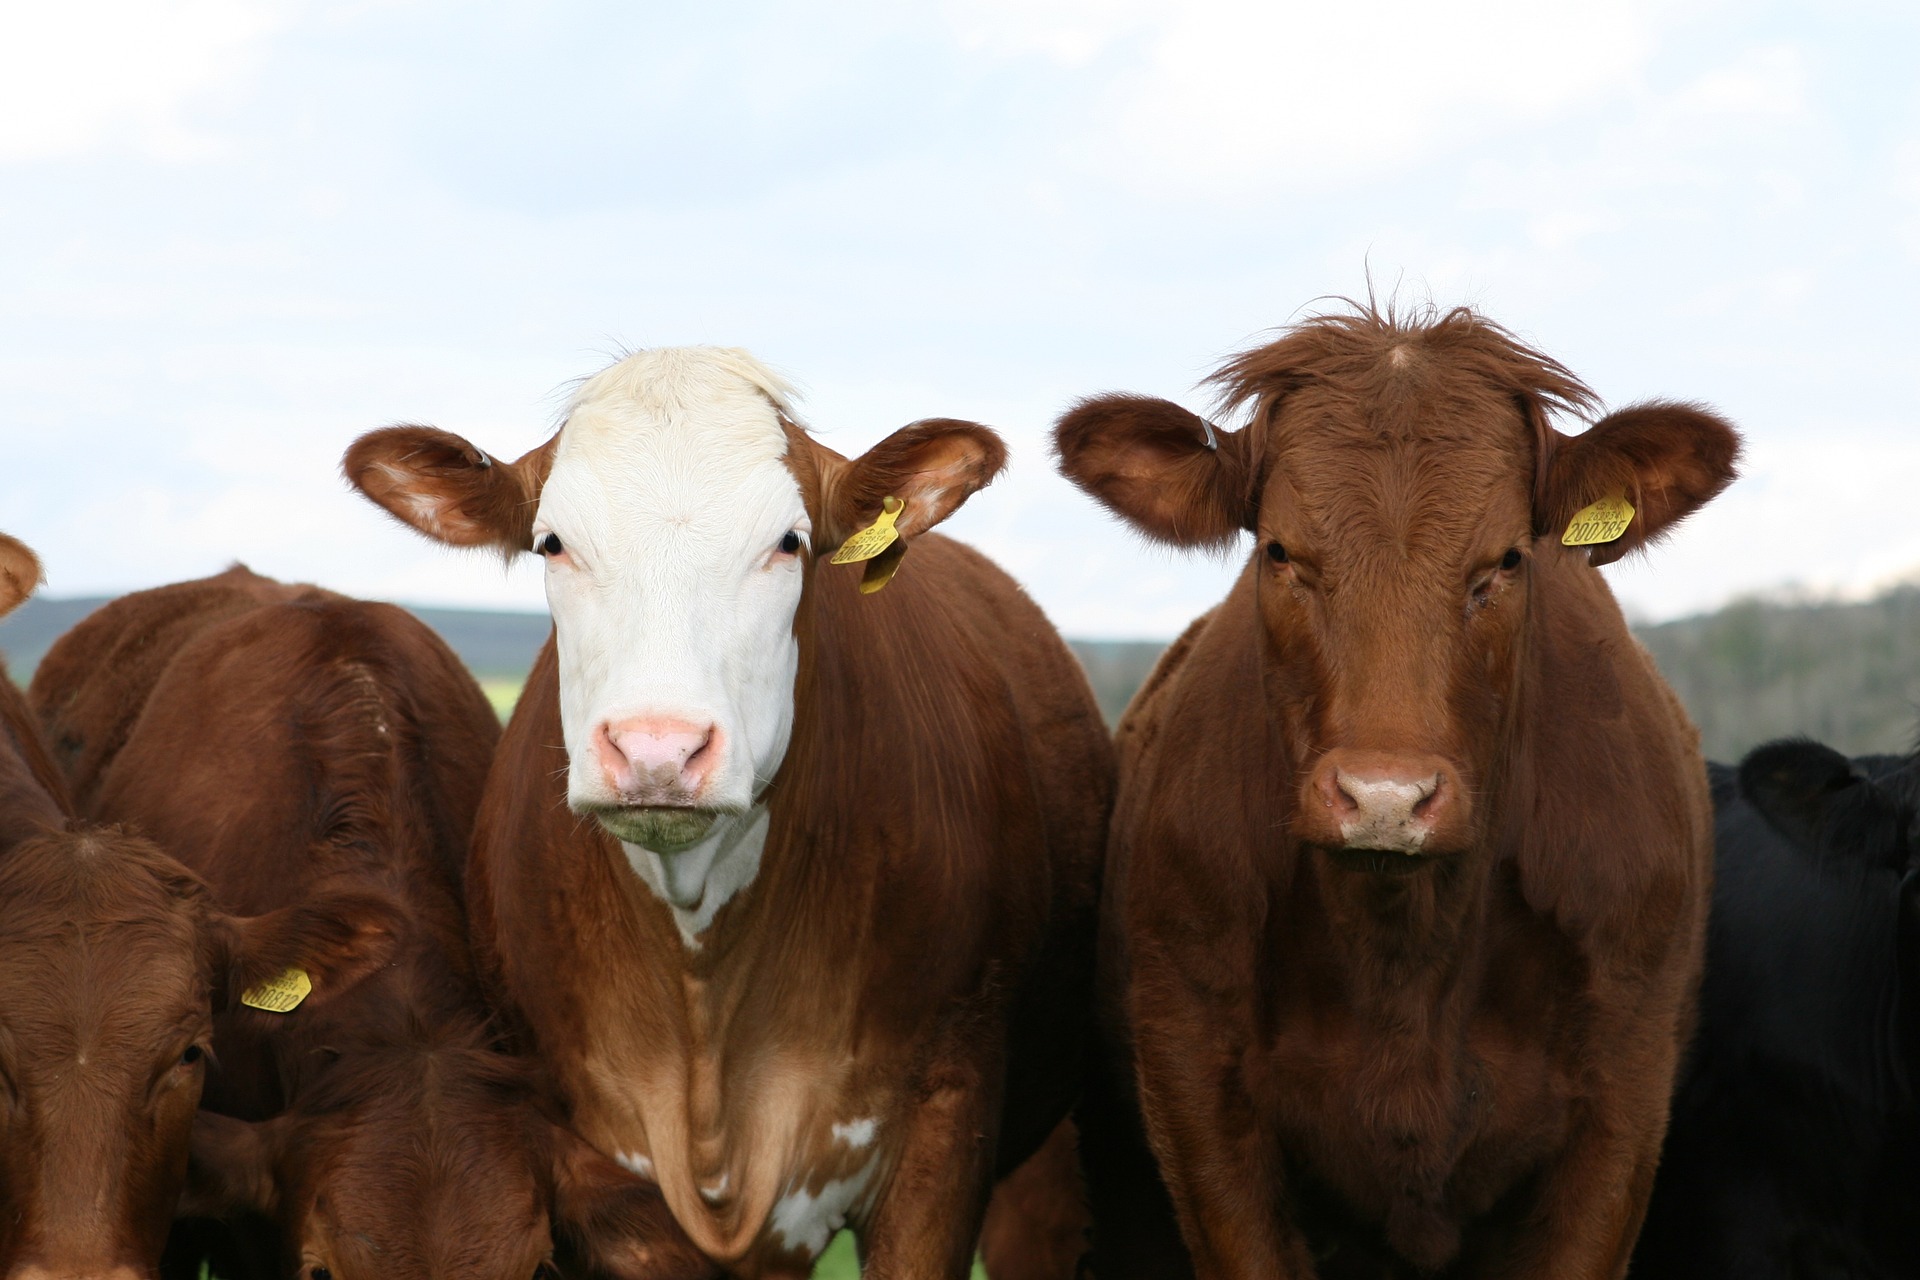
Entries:
{"type": "Polygon", "coordinates": [[[355,439],[340,470],[374,505],[428,537],[511,557],[532,549],[534,510],[557,439],[503,462],[453,432],[388,426],[355,439]]]}

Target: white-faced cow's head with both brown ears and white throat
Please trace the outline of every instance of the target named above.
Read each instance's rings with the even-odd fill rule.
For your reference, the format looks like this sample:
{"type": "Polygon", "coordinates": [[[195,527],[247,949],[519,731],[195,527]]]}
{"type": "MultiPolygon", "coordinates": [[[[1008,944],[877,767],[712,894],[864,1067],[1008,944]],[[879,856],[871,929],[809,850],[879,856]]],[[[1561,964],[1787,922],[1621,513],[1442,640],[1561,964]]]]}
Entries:
{"type": "Polygon", "coordinates": [[[889,499],[910,543],[1006,464],[998,436],[958,418],[849,461],[791,428],[789,395],[745,351],[662,347],[588,380],[559,436],[515,462],[432,426],[369,432],[342,461],[428,537],[545,557],[568,804],[620,839],[689,944],[760,865],[803,560],[889,499]]]}

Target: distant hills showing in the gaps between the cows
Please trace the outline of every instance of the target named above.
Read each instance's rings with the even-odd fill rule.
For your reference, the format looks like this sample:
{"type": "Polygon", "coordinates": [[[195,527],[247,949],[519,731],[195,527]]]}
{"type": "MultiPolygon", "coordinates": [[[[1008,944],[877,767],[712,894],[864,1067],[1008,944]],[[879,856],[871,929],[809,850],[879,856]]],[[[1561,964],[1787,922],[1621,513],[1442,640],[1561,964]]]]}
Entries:
{"type": "MultiPolygon", "coordinates": [[[[106,599],[31,599],[0,622],[0,652],[25,683],[40,654],[106,599]]],[[[495,706],[511,706],[545,614],[415,608],[440,631],[495,706]]],[[[1905,750],[1920,725],[1920,587],[1866,603],[1740,601],[1726,608],[1640,628],[1715,760],[1788,733],[1849,754],[1905,750]]],[[[1071,641],[1106,718],[1117,720],[1164,645],[1071,641]]]]}

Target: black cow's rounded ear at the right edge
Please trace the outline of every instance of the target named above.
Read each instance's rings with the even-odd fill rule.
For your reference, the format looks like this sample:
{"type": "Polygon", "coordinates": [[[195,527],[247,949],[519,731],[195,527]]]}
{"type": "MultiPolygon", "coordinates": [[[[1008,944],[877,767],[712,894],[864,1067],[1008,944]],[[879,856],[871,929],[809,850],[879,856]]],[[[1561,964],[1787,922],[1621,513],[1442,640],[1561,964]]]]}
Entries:
{"type": "Polygon", "coordinates": [[[1912,812],[1832,747],[1782,739],[1740,762],[1740,793],[1816,858],[1905,869],[1912,812]]]}

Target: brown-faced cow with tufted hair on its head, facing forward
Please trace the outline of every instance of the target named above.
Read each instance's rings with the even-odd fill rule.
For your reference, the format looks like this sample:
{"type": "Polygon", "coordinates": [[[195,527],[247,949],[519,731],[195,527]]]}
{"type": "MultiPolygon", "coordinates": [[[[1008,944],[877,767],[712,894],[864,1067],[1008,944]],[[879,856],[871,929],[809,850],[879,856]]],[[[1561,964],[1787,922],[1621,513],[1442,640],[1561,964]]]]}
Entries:
{"type": "MultiPolygon", "coordinates": [[[[1465,309],[1313,319],[1215,380],[1244,430],[1104,395],[1056,432],[1150,537],[1256,539],[1127,712],[1108,862],[1102,983],[1194,1268],[1619,1276],[1713,846],[1594,566],[1718,493],[1738,436],[1674,403],[1561,436],[1592,393],[1465,309]],[[1624,533],[1563,545],[1620,495],[1624,533]]],[[[1121,1167],[1089,1169],[1102,1276],[1144,1255],[1121,1167]]]]}

